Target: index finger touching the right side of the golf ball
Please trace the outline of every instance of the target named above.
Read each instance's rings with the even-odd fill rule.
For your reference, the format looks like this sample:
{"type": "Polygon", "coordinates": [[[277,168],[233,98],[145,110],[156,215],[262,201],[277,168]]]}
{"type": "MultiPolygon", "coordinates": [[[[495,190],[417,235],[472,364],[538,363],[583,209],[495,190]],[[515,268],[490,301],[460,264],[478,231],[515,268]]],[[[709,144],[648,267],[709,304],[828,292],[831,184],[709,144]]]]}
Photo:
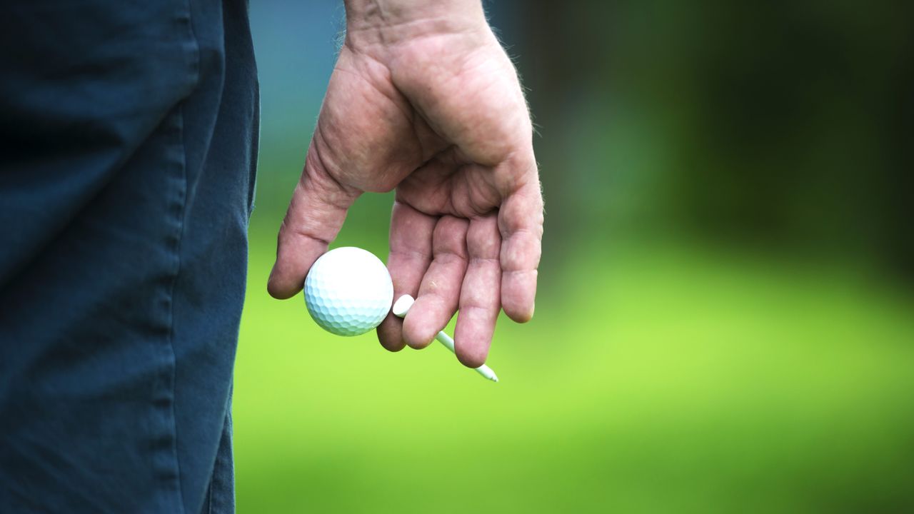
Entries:
{"type": "MultiPolygon", "coordinates": [[[[390,213],[388,271],[394,281],[394,301],[403,294],[416,296],[422,275],[431,262],[431,236],[438,218],[423,214],[399,201],[390,213]]],[[[390,351],[406,346],[403,320],[388,313],[377,327],[377,340],[390,351]]]]}

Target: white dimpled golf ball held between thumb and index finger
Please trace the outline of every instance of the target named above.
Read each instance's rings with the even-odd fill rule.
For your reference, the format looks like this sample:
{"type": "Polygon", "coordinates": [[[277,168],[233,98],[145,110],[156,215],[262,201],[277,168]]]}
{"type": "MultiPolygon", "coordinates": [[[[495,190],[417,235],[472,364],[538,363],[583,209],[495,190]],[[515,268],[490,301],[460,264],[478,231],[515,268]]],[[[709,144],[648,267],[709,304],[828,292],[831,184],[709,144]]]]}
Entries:
{"type": "Polygon", "coordinates": [[[304,281],[304,303],[324,330],[358,336],[388,316],[394,285],[387,266],[371,252],[351,246],[324,253],[304,281]]]}

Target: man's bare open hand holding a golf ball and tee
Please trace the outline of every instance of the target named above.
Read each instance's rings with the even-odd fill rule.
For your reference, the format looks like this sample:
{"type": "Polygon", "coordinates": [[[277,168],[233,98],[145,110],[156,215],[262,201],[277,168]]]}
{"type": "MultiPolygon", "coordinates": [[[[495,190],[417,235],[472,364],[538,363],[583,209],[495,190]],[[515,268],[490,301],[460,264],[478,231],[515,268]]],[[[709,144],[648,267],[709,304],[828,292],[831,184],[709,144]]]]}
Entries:
{"type": "Polygon", "coordinates": [[[357,4],[268,289],[300,291],[356,198],[396,188],[388,269],[394,298],[416,303],[378,339],[423,348],[459,309],[457,357],[480,366],[499,310],[521,323],[534,311],[543,202],[520,84],[478,0],[450,14],[436,10],[447,2],[357,4]]]}

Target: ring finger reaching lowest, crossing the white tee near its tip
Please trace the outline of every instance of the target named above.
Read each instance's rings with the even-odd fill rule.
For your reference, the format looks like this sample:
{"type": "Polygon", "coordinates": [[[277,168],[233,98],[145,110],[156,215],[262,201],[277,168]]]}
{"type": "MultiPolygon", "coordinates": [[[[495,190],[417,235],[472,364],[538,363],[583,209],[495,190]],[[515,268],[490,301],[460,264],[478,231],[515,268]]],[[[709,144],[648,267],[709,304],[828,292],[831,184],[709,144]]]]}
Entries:
{"type": "Polygon", "coordinates": [[[498,252],[501,236],[495,215],[470,221],[466,235],[469,263],[460,294],[460,314],[454,329],[457,359],[470,368],[485,362],[498,317],[501,267],[498,252]]]}

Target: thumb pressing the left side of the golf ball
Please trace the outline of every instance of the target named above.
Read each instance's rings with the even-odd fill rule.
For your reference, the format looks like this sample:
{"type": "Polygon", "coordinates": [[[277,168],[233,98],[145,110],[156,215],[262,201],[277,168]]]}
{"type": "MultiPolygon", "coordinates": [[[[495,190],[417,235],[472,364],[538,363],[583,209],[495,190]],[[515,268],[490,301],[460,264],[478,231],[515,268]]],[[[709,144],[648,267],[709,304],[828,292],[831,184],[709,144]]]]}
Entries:
{"type": "Polygon", "coordinates": [[[276,263],[267,283],[272,297],[285,299],[302,290],[305,275],[327,251],[327,245],[343,226],[346,210],[359,194],[357,189],[341,185],[324,172],[312,143],[280,227],[276,263]]]}

